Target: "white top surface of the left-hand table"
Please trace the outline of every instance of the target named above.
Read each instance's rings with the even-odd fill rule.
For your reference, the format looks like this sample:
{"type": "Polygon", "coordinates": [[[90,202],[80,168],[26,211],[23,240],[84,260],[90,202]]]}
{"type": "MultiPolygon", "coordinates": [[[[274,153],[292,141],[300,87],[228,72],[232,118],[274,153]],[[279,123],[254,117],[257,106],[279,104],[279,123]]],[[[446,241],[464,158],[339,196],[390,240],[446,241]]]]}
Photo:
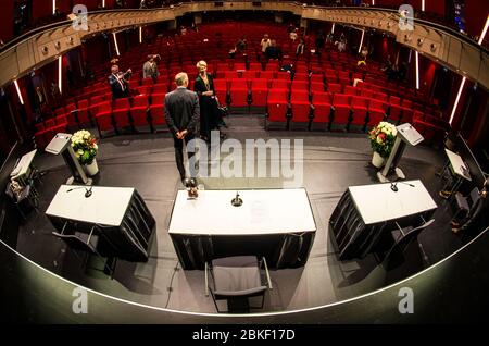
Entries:
{"type": "Polygon", "coordinates": [[[118,226],[133,197],[133,187],[61,185],[46,211],[47,215],[102,225],[118,226]]]}

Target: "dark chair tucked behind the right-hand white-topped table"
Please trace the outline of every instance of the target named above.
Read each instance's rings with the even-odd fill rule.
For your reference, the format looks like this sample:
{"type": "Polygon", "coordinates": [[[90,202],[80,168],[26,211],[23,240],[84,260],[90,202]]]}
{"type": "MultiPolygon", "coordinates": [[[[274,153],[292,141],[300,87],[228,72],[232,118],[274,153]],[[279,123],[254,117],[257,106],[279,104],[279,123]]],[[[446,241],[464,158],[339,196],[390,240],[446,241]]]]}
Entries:
{"type": "MultiPolygon", "coordinates": [[[[384,257],[383,263],[386,263],[388,267],[390,267],[391,258],[394,254],[397,254],[398,256],[400,255],[401,257],[404,257],[405,250],[408,249],[410,244],[413,242],[417,243],[417,236],[419,235],[419,233],[423,230],[426,230],[427,227],[429,227],[435,222],[435,219],[425,221],[425,219],[423,217],[421,217],[421,218],[423,219],[423,223],[417,227],[413,227],[413,226],[401,227],[399,225],[399,223],[396,222],[396,225],[398,228],[391,232],[391,237],[393,238],[393,245],[391,246],[391,248],[389,249],[387,255],[384,257]]],[[[422,251],[423,257],[426,257],[422,245],[421,244],[417,244],[417,245],[418,245],[419,250],[422,251]]]]}

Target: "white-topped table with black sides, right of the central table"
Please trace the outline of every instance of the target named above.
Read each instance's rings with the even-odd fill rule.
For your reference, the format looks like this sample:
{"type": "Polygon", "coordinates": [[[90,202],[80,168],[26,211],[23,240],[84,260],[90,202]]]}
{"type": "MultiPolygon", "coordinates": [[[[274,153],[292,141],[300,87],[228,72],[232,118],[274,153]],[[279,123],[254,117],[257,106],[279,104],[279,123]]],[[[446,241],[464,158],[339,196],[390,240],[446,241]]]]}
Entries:
{"type": "Polygon", "coordinates": [[[335,208],[329,223],[341,260],[363,258],[372,251],[384,230],[396,222],[416,226],[430,218],[437,205],[421,181],[351,186],[335,208]]]}

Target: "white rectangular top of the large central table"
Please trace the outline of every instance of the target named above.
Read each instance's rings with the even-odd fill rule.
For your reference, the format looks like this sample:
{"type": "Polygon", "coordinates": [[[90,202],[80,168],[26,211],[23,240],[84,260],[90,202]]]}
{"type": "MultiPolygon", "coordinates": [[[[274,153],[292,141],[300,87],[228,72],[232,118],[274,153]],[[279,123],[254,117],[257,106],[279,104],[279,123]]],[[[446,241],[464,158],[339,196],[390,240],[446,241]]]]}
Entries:
{"type": "Polygon", "coordinates": [[[239,190],[241,207],[234,207],[236,190],[199,190],[188,199],[179,190],[168,233],[193,235],[256,235],[316,231],[305,189],[239,190]]]}

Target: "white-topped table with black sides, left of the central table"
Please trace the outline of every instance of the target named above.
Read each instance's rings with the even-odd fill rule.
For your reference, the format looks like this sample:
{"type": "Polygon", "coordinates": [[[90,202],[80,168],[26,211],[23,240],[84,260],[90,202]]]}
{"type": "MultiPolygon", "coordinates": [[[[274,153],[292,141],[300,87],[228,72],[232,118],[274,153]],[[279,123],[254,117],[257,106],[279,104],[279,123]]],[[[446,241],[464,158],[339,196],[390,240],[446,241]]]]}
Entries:
{"type": "Polygon", "coordinates": [[[46,214],[59,231],[68,226],[88,232],[96,226],[121,259],[148,260],[155,222],[133,187],[61,185],[46,214]],[[87,189],[90,197],[85,197],[87,189]]]}

